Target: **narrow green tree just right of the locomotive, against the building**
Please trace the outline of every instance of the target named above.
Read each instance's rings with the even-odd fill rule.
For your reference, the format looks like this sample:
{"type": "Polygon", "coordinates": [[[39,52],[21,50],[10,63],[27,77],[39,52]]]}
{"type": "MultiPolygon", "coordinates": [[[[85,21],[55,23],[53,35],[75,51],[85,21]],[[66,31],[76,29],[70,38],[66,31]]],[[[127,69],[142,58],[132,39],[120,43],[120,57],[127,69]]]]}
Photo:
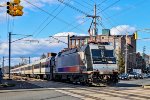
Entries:
{"type": "Polygon", "coordinates": [[[123,54],[120,49],[119,49],[119,53],[118,53],[118,67],[119,67],[119,72],[124,73],[125,61],[124,61],[124,57],[123,57],[123,54]]]}

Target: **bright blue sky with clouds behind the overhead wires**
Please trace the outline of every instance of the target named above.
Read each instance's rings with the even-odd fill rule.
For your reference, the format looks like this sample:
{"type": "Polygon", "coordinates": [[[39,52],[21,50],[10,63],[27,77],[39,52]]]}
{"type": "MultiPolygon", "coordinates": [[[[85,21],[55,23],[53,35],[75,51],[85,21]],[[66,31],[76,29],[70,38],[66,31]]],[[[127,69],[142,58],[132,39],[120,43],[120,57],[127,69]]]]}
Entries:
{"type": "MultiPolygon", "coordinates": [[[[0,4],[2,5],[6,3],[6,1],[8,0],[0,0],[0,4]]],[[[87,34],[87,30],[92,20],[85,17],[85,15],[83,13],[80,13],[80,11],[76,11],[75,9],[65,6],[58,0],[26,1],[31,2],[40,9],[48,12],[52,16],[28,4],[24,0],[21,0],[21,4],[24,6],[24,15],[21,17],[11,18],[6,14],[6,7],[0,7],[0,57],[8,56],[8,31],[12,31],[15,34],[31,34],[33,35],[33,37],[30,37],[30,40],[34,39],[40,42],[29,43],[24,39],[22,41],[13,43],[14,45],[12,44],[12,57],[16,58],[19,58],[20,56],[38,57],[45,52],[58,52],[61,48],[66,46],[63,43],[57,43],[58,41],[54,39],[49,39],[49,36],[67,35],[70,32],[71,34],[76,35],[87,34]],[[54,10],[55,12],[53,12],[54,10]],[[52,20],[56,15],[57,17],[49,23],[49,21],[52,20]],[[10,20],[9,30],[8,17],[10,20]],[[46,21],[46,23],[41,25],[41,23],[43,23],[43,21],[48,17],[49,19],[46,21]],[[47,23],[49,24],[45,27],[47,23]],[[39,28],[40,25],[41,27],[39,28]],[[77,25],[77,28],[73,28],[77,25]],[[43,29],[43,27],[45,28],[43,29]],[[55,43],[50,43],[50,41],[53,41],[55,43]],[[4,42],[6,43],[4,44],[4,42]]],[[[116,4],[114,4],[116,1],[118,0],[64,0],[64,2],[69,3],[71,6],[91,15],[93,14],[94,4],[100,4],[97,7],[97,12],[98,15],[101,16],[102,20],[99,20],[98,22],[103,23],[104,28],[112,29],[113,27],[126,25],[128,26],[128,28],[125,28],[124,31],[127,31],[130,30],[130,28],[139,30],[150,27],[150,0],[120,0],[116,4]],[[99,13],[100,10],[104,11],[99,13]]],[[[102,29],[102,26],[100,24],[98,26],[98,29],[100,34],[102,29]]],[[[119,30],[123,29],[121,28],[119,30]]],[[[132,32],[133,31],[129,31],[129,34],[132,34],[132,32]]],[[[150,38],[150,33],[139,31],[138,36],[139,38],[150,38]]],[[[12,36],[12,40],[21,37],[23,36],[12,36]]],[[[66,41],[66,39],[60,39],[66,41]]],[[[148,43],[149,40],[137,40],[137,51],[142,52],[143,46],[146,46],[146,53],[149,54],[150,46],[148,45],[148,43]]]]}

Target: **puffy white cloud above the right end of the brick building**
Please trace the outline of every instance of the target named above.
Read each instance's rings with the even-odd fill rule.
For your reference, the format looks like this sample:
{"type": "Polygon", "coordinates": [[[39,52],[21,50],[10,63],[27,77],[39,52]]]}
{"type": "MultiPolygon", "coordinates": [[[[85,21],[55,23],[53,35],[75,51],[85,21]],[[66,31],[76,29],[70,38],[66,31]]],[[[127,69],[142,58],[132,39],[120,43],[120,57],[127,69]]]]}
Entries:
{"type": "Polygon", "coordinates": [[[132,27],[130,25],[119,25],[116,27],[113,27],[110,30],[111,35],[125,35],[128,33],[128,35],[133,34],[136,31],[135,27],[132,27]]]}

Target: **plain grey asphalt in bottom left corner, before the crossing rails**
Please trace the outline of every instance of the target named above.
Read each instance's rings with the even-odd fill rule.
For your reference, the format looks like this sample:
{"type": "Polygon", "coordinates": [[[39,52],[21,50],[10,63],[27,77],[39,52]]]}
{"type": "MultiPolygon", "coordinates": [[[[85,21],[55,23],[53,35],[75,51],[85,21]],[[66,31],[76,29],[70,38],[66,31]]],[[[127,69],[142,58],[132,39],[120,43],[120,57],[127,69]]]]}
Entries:
{"type": "Polygon", "coordinates": [[[53,90],[21,90],[0,93],[0,100],[79,100],[53,90]]]}

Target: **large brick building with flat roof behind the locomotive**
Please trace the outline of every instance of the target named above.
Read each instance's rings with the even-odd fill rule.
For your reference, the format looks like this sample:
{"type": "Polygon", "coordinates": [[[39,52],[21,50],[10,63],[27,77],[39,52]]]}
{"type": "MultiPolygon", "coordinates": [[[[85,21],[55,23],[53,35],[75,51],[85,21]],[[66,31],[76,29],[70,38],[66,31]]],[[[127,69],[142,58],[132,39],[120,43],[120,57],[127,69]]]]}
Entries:
{"type": "MultiPolygon", "coordinates": [[[[126,44],[126,36],[125,35],[110,35],[110,31],[103,32],[102,35],[90,37],[90,36],[72,36],[70,37],[69,47],[79,47],[83,44],[86,44],[88,41],[96,40],[97,42],[109,42],[114,46],[116,54],[118,54],[119,50],[125,57],[125,44],[126,44]]],[[[136,67],[136,40],[133,35],[128,35],[127,43],[128,47],[128,70],[136,67]]]]}

